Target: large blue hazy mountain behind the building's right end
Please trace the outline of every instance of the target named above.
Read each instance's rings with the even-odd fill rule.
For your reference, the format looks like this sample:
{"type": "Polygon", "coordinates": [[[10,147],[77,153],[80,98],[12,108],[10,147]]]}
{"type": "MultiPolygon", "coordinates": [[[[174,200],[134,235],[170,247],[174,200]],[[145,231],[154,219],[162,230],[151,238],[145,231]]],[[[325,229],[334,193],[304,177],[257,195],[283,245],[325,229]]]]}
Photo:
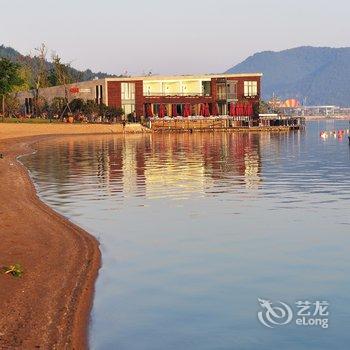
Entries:
{"type": "Polygon", "coordinates": [[[264,99],[275,94],[307,105],[350,106],[350,48],[304,46],[265,51],[227,72],[264,73],[264,99]]]}

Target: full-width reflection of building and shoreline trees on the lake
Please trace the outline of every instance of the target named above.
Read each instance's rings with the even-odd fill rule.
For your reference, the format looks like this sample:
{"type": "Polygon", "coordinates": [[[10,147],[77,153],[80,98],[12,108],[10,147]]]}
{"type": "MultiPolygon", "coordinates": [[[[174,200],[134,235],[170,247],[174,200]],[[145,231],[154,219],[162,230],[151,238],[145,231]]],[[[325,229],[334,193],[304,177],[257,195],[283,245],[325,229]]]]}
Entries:
{"type": "Polygon", "coordinates": [[[69,178],[123,197],[188,197],[258,188],[261,148],[270,142],[262,134],[219,132],[67,137],[43,143],[31,162],[56,184],[69,178]]]}

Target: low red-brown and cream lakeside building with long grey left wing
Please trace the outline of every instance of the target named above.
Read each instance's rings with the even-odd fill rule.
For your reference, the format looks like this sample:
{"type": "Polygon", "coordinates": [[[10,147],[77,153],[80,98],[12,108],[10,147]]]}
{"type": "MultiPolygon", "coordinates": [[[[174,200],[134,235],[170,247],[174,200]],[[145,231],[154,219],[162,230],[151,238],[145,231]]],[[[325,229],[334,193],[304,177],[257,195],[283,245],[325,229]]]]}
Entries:
{"type": "MultiPolygon", "coordinates": [[[[48,102],[55,97],[95,100],[122,107],[125,114],[140,116],[228,115],[231,104],[244,102],[242,115],[251,116],[261,96],[261,73],[105,78],[40,89],[48,102]],[[186,111],[186,112],[185,112],[186,111]]],[[[26,114],[32,113],[33,92],[17,94],[26,114]]]]}

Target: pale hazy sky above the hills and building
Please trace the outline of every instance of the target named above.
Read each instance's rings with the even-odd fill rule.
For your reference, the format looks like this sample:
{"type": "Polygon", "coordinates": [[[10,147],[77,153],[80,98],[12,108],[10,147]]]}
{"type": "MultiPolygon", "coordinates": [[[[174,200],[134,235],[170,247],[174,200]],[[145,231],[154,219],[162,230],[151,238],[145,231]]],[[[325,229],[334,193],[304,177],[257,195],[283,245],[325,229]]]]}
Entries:
{"type": "Polygon", "coordinates": [[[350,46],[349,0],[0,0],[0,44],[74,67],[222,72],[264,50],[350,46]]]}

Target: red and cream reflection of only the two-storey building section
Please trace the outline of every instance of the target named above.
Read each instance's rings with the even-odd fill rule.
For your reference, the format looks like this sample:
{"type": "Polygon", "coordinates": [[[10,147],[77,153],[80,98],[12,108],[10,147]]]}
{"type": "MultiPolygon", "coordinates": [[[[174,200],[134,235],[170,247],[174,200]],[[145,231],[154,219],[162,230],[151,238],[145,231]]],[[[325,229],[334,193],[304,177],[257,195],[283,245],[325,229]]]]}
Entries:
{"type": "Polygon", "coordinates": [[[153,134],[114,139],[109,146],[112,192],[163,196],[205,193],[260,183],[259,134],[153,134]]]}

